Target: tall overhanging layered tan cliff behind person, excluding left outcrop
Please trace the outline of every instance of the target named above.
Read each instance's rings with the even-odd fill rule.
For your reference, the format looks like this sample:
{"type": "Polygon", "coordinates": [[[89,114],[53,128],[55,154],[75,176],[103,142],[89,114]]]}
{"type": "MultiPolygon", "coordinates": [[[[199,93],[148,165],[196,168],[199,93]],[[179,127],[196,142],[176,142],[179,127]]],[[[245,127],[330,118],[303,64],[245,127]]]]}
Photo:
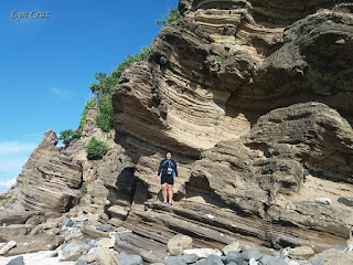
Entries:
{"type": "Polygon", "coordinates": [[[127,221],[136,213],[178,232],[196,224],[190,234],[229,244],[234,234],[205,232],[196,214],[204,209],[272,247],[343,242],[353,214],[336,201],[353,191],[352,4],[340,6],[347,12],[329,1],[179,7],[184,18],[163,26],[148,60],[122,74],[114,107],[116,142],[142,182],[136,197],[158,195],[153,176],[171,150],[181,171],[175,200],[186,209],[176,212],[188,221],[176,225],[179,216],[150,205],[153,214],[143,214],[133,203],[127,221]],[[317,203],[318,194],[332,204],[317,203]]]}

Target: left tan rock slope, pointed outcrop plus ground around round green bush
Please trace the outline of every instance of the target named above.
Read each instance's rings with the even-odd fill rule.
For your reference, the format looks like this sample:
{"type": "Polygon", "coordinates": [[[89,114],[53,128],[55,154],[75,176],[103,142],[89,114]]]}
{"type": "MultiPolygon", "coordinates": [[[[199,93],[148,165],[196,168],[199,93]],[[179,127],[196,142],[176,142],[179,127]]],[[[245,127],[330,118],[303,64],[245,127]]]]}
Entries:
{"type": "MultiPolygon", "coordinates": [[[[86,126],[81,139],[73,139],[67,147],[56,147],[57,136],[49,130],[42,142],[30,156],[17,184],[4,197],[9,203],[1,205],[0,224],[40,224],[46,219],[68,212],[73,206],[82,206],[92,213],[103,213],[109,190],[104,179],[106,165],[99,169],[95,161],[87,160],[86,145],[92,137],[105,140],[110,149],[116,144],[110,134],[104,134],[93,125],[97,108],[93,107],[86,116],[86,126]],[[99,174],[101,172],[101,174],[99,174]],[[82,191],[83,182],[87,184],[86,194],[82,191]]],[[[115,153],[120,151],[116,149],[115,153]]],[[[111,152],[107,157],[114,160],[111,152]]],[[[109,166],[109,163],[107,165],[109,166]]],[[[108,169],[109,173],[113,171],[108,169]]],[[[113,178],[108,174],[107,178],[113,178]]],[[[115,182],[110,183],[113,187],[115,182]]],[[[131,186],[129,186],[130,189],[131,186]]]]}

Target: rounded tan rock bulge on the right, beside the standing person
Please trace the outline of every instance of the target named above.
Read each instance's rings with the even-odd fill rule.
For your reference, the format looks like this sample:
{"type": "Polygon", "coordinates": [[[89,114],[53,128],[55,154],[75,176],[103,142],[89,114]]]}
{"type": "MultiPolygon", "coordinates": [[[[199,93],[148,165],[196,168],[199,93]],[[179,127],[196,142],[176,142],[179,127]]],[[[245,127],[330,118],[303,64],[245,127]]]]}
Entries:
{"type": "Polygon", "coordinates": [[[320,187],[311,183],[310,191],[303,179],[306,167],[318,178],[352,182],[352,168],[338,166],[353,152],[347,125],[335,110],[317,103],[272,110],[246,137],[203,152],[186,182],[186,195],[208,189],[245,214],[347,236],[352,210],[336,202],[318,204],[314,190],[320,187]],[[303,190],[301,200],[298,194],[303,190]]]}

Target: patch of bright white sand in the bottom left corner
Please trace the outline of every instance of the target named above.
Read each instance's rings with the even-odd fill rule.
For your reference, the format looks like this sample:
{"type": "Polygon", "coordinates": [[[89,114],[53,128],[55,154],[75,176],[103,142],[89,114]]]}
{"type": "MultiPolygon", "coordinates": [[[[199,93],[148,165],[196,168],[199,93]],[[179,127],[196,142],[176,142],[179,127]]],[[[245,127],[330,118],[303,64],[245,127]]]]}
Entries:
{"type": "Polygon", "coordinates": [[[35,253],[28,253],[17,256],[0,257],[0,265],[7,265],[11,259],[23,256],[25,265],[74,265],[75,262],[60,262],[62,258],[61,251],[41,251],[35,253]],[[53,255],[57,252],[57,256],[53,255]]]}

